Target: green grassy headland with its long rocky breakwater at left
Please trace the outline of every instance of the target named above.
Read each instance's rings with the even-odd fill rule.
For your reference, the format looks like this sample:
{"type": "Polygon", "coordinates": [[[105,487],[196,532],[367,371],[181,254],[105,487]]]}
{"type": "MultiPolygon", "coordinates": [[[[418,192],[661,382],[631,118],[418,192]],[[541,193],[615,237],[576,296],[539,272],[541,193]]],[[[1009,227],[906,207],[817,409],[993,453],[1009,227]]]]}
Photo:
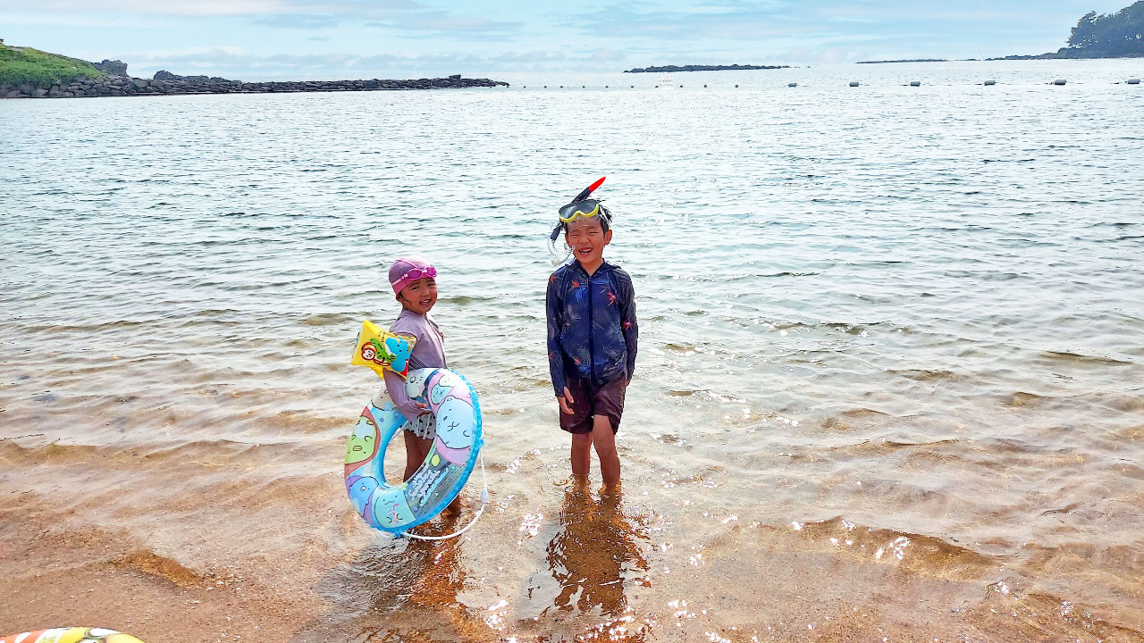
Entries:
{"type": "Polygon", "coordinates": [[[219,77],[177,76],[160,71],[153,78],[133,78],[120,61],[89,63],[30,47],[9,47],[0,39],[0,98],[77,98],[156,94],[270,94],[296,92],[378,92],[508,87],[487,78],[421,78],[416,80],[287,80],[243,82],[219,77]]]}

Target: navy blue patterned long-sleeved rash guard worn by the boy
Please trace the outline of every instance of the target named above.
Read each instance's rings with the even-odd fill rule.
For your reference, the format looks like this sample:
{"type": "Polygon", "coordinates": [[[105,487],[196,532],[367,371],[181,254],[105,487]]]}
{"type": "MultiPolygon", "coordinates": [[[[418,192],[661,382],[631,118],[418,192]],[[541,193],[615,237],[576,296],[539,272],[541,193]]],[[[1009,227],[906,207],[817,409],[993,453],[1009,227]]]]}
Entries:
{"type": "Polygon", "coordinates": [[[631,277],[606,261],[588,272],[579,262],[548,278],[548,368],[564,395],[567,378],[593,386],[628,381],[636,367],[636,296],[631,277]]]}

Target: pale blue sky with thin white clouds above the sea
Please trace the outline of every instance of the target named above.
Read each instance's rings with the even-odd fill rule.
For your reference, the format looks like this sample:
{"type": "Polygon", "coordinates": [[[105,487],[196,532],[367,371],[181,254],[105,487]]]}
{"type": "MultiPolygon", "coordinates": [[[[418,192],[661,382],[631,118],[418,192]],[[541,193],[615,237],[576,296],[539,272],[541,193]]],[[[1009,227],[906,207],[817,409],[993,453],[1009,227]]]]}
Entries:
{"type": "Polygon", "coordinates": [[[1131,0],[0,0],[0,39],[239,80],[1042,54],[1131,0]]]}

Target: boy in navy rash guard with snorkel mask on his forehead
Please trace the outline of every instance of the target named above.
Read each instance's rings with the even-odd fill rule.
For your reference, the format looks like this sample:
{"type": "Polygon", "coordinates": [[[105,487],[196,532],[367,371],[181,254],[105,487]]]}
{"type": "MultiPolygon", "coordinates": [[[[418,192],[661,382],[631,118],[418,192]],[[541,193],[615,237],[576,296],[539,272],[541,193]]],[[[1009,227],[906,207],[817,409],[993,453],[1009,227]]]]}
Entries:
{"type": "Polygon", "coordinates": [[[585,199],[589,195],[590,189],[562,207],[553,231],[564,231],[575,261],[548,279],[548,366],[561,428],[572,434],[572,475],[587,482],[595,447],[604,485],[615,487],[615,434],[635,371],[638,327],[631,277],[604,261],[612,214],[585,199]]]}

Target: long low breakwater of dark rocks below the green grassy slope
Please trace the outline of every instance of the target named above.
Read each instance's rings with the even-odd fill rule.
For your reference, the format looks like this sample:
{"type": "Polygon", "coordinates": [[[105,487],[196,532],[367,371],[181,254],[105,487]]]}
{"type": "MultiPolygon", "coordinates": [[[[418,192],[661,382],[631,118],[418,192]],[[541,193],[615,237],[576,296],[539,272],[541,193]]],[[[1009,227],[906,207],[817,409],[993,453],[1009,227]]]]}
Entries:
{"type": "MultiPolygon", "coordinates": [[[[97,65],[98,66],[98,65],[97,65]]],[[[126,65],[124,65],[126,72],[126,65]]],[[[148,96],[177,94],[270,94],[296,92],[378,92],[386,89],[448,89],[464,87],[508,87],[507,82],[487,78],[422,78],[418,80],[303,80],[243,82],[206,76],[176,76],[160,71],[154,78],[132,78],[108,74],[103,78],[76,77],[69,82],[56,82],[49,87],[0,88],[0,96],[7,98],[74,98],[97,96],[148,96]]]]}

